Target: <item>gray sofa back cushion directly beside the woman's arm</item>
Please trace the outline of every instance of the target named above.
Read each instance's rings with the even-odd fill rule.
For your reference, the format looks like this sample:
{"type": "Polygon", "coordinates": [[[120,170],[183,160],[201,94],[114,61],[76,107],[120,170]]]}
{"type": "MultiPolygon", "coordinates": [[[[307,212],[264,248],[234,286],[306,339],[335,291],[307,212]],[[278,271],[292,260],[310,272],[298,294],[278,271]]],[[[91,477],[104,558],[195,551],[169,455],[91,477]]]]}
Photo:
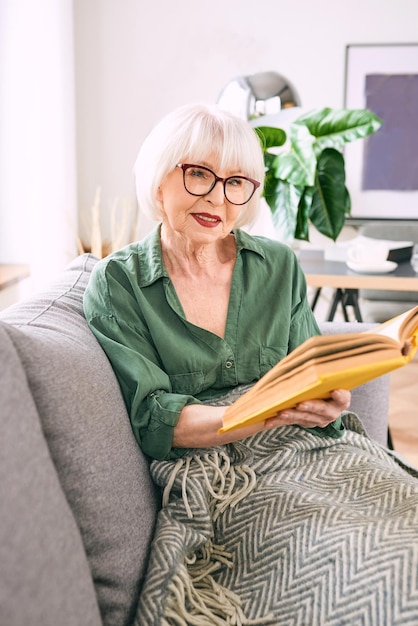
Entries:
{"type": "Polygon", "coordinates": [[[83,316],[96,261],[82,255],[48,293],[0,317],[14,326],[10,336],[82,533],[104,624],[121,626],[136,607],[158,498],[112,368],[83,316]]]}

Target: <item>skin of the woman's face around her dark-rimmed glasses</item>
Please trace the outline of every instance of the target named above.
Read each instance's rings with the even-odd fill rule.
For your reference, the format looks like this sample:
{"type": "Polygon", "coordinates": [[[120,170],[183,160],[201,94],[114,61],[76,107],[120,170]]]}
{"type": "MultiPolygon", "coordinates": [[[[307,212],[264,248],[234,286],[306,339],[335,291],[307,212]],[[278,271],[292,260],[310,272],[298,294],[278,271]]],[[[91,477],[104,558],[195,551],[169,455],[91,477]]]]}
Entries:
{"type": "MultiPolygon", "coordinates": [[[[242,175],[239,171],[220,172],[216,160],[211,157],[196,165],[209,168],[221,178],[242,175]]],[[[158,199],[164,227],[199,243],[226,237],[234,228],[242,209],[242,206],[228,202],[220,181],[204,196],[191,195],[184,187],[181,167],[175,167],[163,180],[158,199]]]]}

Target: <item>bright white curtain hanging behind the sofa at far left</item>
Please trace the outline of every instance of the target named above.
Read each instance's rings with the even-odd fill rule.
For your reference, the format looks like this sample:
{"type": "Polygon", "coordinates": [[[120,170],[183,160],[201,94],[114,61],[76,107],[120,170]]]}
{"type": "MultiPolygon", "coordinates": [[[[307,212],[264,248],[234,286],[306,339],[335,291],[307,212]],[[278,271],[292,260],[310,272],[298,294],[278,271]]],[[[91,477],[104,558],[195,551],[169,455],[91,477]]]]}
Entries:
{"type": "Polygon", "coordinates": [[[34,287],[76,250],[72,9],[0,0],[0,262],[30,263],[34,287]]]}

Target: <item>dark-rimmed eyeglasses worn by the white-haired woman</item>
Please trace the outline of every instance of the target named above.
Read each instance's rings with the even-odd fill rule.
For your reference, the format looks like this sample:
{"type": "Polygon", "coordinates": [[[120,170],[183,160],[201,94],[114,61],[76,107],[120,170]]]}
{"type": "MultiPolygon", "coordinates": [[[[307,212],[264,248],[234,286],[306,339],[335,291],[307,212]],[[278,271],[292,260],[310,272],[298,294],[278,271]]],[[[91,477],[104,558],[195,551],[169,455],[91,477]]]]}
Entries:
{"type": "Polygon", "coordinates": [[[255,190],[260,186],[257,180],[246,176],[228,176],[220,178],[215,172],[190,163],[177,163],[176,167],[183,170],[183,183],[185,190],[192,196],[206,196],[221,182],[224,187],[225,198],[231,204],[246,204],[251,200],[255,190]]]}

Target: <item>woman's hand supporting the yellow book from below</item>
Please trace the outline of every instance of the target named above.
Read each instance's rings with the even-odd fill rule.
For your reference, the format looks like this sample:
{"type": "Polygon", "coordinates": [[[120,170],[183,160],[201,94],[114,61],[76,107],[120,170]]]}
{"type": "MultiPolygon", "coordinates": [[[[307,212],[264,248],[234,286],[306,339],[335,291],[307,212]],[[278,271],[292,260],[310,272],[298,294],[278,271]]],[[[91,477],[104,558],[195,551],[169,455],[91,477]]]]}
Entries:
{"type": "Polygon", "coordinates": [[[328,400],[306,400],[293,409],[280,411],[276,417],[266,420],[265,428],[276,428],[286,424],[297,424],[305,428],[327,426],[348,409],[351,393],[346,389],[336,389],[328,400]]]}

